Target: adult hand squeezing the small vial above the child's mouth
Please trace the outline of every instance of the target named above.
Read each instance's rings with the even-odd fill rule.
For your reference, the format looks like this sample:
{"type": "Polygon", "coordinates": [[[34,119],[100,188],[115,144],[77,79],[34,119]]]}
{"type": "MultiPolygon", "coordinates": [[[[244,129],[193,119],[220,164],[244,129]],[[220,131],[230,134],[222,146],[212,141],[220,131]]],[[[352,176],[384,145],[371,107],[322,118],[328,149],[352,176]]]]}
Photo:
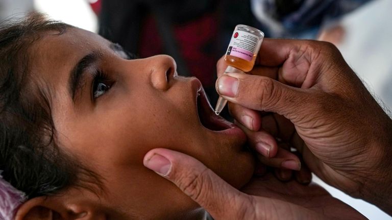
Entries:
{"type": "Polygon", "coordinates": [[[266,130],[328,184],[392,213],[391,119],[336,47],[265,39],[249,75],[225,68],[219,60],[216,89],[251,143],[266,130]]]}

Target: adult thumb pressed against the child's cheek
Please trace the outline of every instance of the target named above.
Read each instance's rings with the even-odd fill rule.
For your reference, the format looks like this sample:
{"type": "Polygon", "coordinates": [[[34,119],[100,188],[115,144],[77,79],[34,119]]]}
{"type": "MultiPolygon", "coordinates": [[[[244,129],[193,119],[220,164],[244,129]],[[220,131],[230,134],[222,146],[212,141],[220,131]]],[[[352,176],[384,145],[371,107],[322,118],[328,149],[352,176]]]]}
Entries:
{"type": "Polygon", "coordinates": [[[153,149],[144,156],[144,166],[176,184],[214,219],[243,218],[254,212],[250,195],[244,194],[200,161],[179,152],[153,149]]]}

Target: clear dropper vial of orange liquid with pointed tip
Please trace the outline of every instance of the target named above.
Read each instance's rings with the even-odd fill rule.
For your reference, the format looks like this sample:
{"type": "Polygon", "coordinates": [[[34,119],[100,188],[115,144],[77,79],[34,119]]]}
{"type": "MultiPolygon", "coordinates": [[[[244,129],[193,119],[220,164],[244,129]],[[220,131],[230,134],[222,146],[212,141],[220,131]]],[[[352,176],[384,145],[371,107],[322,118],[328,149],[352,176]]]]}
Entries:
{"type": "MultiPolygon", "coordinates": [[[[225,62],[228,64],[225,74],[228,72],[245,74],[244,72],[252,70],[263,38],[264,33],[260,30],[246,25],[237,25],[225,55],[225,62]]],[[[215,107],[216,115],[220,114],[226,103],[227,100],[219,96],[215,107]]]]}

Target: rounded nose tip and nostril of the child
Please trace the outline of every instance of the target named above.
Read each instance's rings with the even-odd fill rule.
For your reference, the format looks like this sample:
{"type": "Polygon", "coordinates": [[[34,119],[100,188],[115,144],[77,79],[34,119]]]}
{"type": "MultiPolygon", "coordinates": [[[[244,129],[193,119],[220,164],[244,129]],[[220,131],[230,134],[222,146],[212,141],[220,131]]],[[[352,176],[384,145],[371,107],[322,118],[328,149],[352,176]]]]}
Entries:
{"type": "Polygon", "coordinates": [[[176,62],[167,55],[154,56],[151,59],[154,59],[151,83],[154,88],[165,91],[169,88],[169,81],[176,74],[176,62]]]}

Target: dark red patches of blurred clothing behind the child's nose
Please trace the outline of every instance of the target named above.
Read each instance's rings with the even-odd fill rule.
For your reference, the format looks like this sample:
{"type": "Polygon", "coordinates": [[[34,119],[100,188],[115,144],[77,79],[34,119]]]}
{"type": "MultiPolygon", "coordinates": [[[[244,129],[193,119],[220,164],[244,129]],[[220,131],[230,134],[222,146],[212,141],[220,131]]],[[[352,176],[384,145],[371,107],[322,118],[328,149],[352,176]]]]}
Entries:
{"type": "MultiPolygon", "coordinates": [[[[217,23],[213,14],[174,26],[174,36],[179,51],[184,58],[191,76],[197,77],[203,86],[213,86],[216,75],[214,40],[217,23]]],[[[142,26],[139,53],[141,57],[150,57],[163,53],[162,41],[156,28],[155,20],[150,16],[142,26]]],[[[181,72],[179,72],[181,75],[181,72]]]]}

